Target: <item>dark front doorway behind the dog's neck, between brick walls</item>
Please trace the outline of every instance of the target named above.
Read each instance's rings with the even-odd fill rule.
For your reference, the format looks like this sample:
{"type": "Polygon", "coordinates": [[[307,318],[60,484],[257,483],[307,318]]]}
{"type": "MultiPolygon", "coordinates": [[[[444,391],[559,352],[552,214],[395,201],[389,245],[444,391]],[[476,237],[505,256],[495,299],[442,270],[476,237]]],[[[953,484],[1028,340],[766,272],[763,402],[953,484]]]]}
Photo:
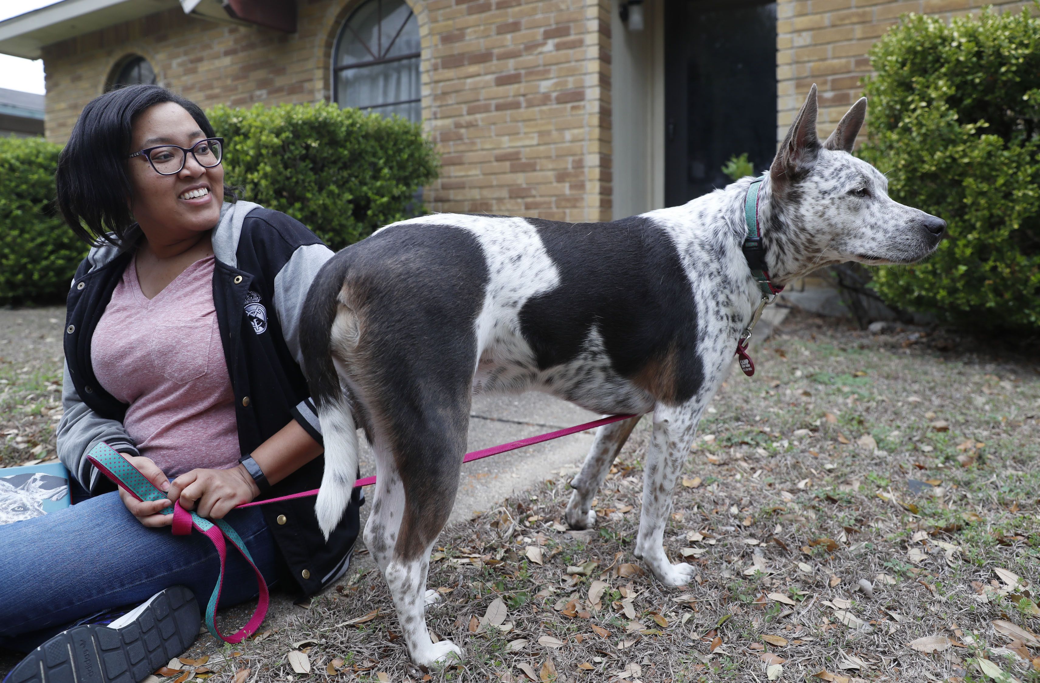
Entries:
{"type": "Polygon", "coordinates": [[[775,2],[673,0],[665,4],[665,202],[684,204],[732,182],[722,173],[748,154],[755,173],[776,153],[775,2]]]}

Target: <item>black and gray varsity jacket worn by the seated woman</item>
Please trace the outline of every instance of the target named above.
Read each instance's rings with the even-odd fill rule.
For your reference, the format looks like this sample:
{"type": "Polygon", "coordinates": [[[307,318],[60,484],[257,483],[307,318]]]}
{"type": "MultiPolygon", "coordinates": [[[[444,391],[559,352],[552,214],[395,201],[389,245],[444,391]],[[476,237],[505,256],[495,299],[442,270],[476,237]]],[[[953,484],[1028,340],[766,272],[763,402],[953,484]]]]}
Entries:
{"type": "MultiPolygon", "coordinates": [[[[301,370],[300,315],[311,281],[332,252],[300,221],[249,202],[224,205],[212,241],[213,304],[235,394],[241,452],[253,452],[290,420],[320,443],[317,415],[301,370]]],[[[92,496],[114,491],[85,457],[98,442],[139,454],[123,427],[127,404],[101,387],[90,364],[94,330],[132,256],[114,246],[92,248],[69,292],[64,416],[58,424],[57,453],[92,496]]],[[[319,455],[258,500],[317,489],[323,469],[324,456],[319,455]]],[[[260,506],[305,595],[320,592],[346,571],[364,502],[358,492],[328,543],[314,515],[314,498],[260,506]]]]}

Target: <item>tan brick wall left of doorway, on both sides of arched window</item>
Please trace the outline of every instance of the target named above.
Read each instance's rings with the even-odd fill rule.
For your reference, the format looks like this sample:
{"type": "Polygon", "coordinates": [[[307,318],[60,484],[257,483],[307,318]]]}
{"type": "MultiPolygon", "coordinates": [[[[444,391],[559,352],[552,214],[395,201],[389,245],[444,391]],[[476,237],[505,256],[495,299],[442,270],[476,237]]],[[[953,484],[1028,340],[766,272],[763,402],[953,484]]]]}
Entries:
{"type": "MultiPolygon", "coordinates": [[[[48,46],[47,136],[63,141],[131,53],[204,108],[328,99],[336,35],[358,4],[300,0],[291,35],[170,10],[48,46]]],[[[409,4],[423,124],[443,154],[432,207],[609,219],[609,0],[409,4]]]]}

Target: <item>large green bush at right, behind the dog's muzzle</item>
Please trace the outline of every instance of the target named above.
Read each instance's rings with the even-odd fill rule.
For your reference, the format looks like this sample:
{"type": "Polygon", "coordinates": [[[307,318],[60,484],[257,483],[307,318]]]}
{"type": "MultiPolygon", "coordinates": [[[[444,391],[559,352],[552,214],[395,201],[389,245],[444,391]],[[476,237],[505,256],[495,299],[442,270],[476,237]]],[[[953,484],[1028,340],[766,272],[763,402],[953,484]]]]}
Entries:
{"type": "Polygon", "coordinates": [[[1040,20],[909,15],[870,62],[860,154],[893,199],[950,226],[934,257],[873,286],[953,322],[1040,327],[1040,20]]]}

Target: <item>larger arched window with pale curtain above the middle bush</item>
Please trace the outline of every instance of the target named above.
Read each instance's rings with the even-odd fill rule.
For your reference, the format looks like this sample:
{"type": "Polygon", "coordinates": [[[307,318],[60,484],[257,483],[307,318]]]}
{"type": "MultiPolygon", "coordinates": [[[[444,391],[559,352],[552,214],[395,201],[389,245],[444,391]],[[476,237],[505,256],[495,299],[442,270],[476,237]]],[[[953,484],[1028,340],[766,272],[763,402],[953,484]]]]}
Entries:
{"type": "Polygon", "coordinates": [[[336,40],[336,103],[418,122],[419,86],[419,22],[405,0],[368,0],[355,9],[336,40]]]}

